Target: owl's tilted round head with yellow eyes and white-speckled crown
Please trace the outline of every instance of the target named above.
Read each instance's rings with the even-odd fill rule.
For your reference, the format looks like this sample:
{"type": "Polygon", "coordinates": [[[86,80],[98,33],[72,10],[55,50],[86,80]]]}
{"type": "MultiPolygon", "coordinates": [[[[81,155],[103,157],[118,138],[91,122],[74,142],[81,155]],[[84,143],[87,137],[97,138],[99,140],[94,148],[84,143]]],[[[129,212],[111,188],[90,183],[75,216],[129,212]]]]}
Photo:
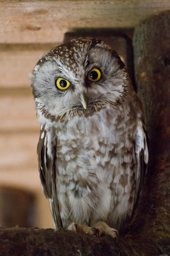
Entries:
{"type": "Polygon", "coordinates": [[[32,73],[38,115],[52,122],[116,108],[129,86],[117,53],[96,39],[80,38],[53,48],[32,73]]]}

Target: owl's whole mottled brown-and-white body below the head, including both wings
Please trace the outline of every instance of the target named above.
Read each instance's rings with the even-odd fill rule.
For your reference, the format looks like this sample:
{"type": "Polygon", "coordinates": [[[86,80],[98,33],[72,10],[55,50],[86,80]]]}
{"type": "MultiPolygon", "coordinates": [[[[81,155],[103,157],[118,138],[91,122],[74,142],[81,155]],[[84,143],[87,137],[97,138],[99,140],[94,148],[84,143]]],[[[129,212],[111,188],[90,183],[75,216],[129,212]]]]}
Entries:
{"type": "Polygon", "coordinates": [[[56,227],[103,219],[119,229],[130,218],[148,161],[140,118],[121,106],[41,126],[39,172],[56,227]]]}

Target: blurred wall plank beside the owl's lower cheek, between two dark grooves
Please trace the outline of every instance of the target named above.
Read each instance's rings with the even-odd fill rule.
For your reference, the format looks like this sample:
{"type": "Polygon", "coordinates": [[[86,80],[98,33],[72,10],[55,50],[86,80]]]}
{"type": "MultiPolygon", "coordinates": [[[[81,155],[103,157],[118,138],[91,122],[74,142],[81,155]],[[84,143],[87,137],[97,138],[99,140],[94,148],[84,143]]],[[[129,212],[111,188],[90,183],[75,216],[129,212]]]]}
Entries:
{"type": "Polygon", "coordinates": [[[0,90],[0,95],[1,133],[39,131],[31,88],[0,90]]]}

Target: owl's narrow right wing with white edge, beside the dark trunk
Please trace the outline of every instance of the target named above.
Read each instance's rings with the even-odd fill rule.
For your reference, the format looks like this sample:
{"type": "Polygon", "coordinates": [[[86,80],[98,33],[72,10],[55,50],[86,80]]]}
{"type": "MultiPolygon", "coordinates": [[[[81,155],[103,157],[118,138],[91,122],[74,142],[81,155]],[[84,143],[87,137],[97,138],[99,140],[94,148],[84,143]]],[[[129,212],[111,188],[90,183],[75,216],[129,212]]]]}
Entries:
{"type": "Polygon", "coordinates": [[[139,121],[134,137],[134,148],[136,158],[136,190],[140,191],[141,184],[145,178],[148,163],[148,136],[145,124],[139,121]]]}

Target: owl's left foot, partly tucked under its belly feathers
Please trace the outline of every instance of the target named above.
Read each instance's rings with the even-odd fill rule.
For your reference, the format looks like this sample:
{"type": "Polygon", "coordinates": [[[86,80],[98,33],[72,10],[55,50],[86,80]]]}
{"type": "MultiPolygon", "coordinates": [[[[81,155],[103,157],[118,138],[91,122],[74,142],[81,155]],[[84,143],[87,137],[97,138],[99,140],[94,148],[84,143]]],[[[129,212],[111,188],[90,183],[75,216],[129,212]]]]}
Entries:
{"type": "Polygon", "coordinates": [[[79,225],[77,223],[72,223],[70,224],[70,226],[68,226],[68,230],[73,230],[76,232],[82,232],[82,233],[86,233],[86,234],[90,234],[93,236],[101,236],[102,235],[102,231],[99,230],[98,228],[91,228],[89,226],[86,225],[79,225]]]}

